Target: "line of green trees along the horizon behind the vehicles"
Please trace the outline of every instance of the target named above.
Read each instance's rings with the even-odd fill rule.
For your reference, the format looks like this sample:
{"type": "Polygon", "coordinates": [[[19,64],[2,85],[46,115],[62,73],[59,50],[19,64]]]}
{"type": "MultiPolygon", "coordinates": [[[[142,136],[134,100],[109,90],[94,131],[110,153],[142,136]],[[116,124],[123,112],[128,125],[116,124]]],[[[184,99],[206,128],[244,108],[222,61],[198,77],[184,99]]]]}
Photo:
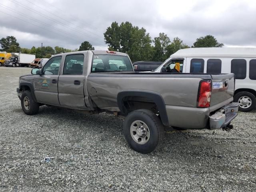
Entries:
{"type": "MultiPolygon", "coordinates": [[[[171,54],[184,48],[190,48],[183,40],[175,37],[173,40],[167,34],[159,33],[157,37],[152,39],[145,28],[133,26],[130,22],[112,22],[111,26],[104,33],[105,43],[108,50],[127,53],[132,62],[135,61],[164,61],[171,54]]],[[[7,36],[0,40],[1,51],[21,52],[27,54],[35,54],[36,58],[41,58],[41,47],[33,46],[31,49],[21,48],[14,36],[7,36]]],[[[201,36],[197,38],[192,48],[196,47],[222,47],[224,44],[219,43],[212,35],[201,36]]],[[[79,48],[75,50],[55,46],[43,46],[43,58],[50,58],[54,54],[74,52],[82,50],[94,50],[90,42],[84,41],[79,48]]]]}

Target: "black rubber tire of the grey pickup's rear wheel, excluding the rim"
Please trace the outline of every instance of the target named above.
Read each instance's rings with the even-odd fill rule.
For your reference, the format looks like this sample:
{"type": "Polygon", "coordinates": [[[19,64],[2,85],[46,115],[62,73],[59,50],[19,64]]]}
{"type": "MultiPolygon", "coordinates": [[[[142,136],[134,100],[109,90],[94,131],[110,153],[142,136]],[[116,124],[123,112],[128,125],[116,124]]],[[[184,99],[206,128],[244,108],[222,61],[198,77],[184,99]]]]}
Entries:
{"type": "Polygon", "coordinates": [[[130,148],[144,154],[154,151],[160,146],[164,139],[164,125],[160,118],[158,118],[152,111],[146,109],[135,110],[128,114],[124,121],[123,132],[130,148]],[[137,120],[144,122],[149,129],[150,136],[145,144],[136,142],[130,132],[132,123],[137,120]]]}

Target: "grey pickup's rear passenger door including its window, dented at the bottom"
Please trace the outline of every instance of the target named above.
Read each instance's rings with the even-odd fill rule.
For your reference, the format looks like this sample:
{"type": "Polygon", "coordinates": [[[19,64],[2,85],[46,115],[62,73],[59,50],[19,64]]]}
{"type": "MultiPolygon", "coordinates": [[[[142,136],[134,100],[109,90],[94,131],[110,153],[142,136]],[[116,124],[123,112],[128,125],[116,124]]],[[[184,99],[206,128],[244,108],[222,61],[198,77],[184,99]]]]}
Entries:
{"type": "Polygon", "coordinates": [[[66,55],[63,70],[58,80],[59,101],[61,106],[87,109],[84,101],[84,54],[66,55]]]}

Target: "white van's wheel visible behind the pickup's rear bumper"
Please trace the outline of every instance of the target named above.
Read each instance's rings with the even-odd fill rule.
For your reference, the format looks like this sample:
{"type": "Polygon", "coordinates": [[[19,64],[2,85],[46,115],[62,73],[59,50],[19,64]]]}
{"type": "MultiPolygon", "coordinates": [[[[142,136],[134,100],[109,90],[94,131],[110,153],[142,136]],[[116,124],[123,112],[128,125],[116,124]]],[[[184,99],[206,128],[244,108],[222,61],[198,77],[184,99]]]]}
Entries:
{"type": "Polygon", "coordinates": [[[238,102],[239,110],[243,112],[253,110],[256,105],[256,98],[254,94],[246,91],[235,94],[234,101],[238,102]]]}

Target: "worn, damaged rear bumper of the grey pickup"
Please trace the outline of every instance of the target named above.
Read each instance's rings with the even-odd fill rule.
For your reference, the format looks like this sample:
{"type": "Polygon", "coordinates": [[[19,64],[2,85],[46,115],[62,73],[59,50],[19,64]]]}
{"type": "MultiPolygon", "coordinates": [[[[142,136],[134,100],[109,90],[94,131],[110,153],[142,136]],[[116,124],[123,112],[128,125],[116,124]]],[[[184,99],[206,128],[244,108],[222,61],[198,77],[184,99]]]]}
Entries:
{"type": "Polygon", "coordinates": [[[210,130],[225,128],[238,114],[238,103],[230,103],[209,116],[210,130]]]}

